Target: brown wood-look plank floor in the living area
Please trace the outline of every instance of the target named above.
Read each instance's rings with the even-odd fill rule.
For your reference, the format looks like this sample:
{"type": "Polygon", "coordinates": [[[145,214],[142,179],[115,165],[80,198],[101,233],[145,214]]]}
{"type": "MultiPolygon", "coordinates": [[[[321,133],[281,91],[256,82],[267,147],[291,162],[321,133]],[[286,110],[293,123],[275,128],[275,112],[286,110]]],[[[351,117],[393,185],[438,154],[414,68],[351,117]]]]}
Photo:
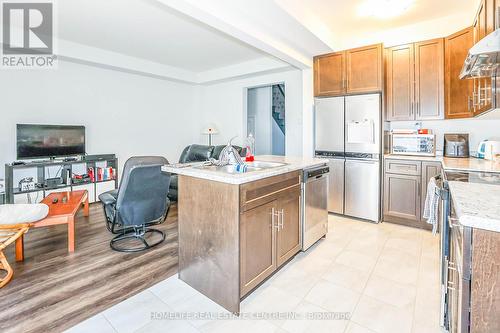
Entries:
{"type": "Polygon", "coordinates": [[[75,252],[67,252],[65,225],[25,235],[25,261],[6,256],[12,281],[0,289],[0,332],[62,332],[177,272],[177,207],[156,226],[165,242],[139,253],[111,250],[100,204],[76,220],[75,252]]]}

